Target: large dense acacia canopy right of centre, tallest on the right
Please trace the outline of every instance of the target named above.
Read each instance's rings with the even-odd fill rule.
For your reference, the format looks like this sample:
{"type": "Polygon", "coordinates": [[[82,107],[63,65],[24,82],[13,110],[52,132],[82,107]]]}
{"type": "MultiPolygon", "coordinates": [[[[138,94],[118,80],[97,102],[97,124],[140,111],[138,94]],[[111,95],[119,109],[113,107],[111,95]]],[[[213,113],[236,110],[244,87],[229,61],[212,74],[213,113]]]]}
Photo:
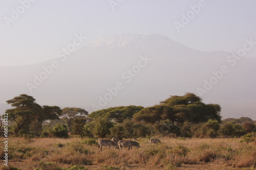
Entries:
{"type": "Polygon", "coordinates": [[[204,123],[208,119],[221,121],[221,107],[218,104],[204,104],[201,99],[193,93],[183,96],[170,96],[159,105],[141,109],[134,114],[134,122],[158,123],[160,120],[169,119],[173,123],[184,122],[204,123]]]}

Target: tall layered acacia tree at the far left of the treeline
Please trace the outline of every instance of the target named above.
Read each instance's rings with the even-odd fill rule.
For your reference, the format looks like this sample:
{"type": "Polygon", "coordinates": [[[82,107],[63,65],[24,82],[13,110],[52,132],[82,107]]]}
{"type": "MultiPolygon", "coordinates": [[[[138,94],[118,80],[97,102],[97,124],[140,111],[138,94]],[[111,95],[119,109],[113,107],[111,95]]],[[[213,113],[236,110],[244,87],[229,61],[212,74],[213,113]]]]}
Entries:
{"type": "Polygon", "coordinates": [[[35,99],[27,94],[20,94],[11,100],[6,101],[11,104],[12,109],[7,109],[8,118],[16,123],[14,133],[20,130],[29,132],[33,122],[41,128],[43,121],[48,119],[59,119],[61,109],[57,106],[40,106],[35,99]]]}

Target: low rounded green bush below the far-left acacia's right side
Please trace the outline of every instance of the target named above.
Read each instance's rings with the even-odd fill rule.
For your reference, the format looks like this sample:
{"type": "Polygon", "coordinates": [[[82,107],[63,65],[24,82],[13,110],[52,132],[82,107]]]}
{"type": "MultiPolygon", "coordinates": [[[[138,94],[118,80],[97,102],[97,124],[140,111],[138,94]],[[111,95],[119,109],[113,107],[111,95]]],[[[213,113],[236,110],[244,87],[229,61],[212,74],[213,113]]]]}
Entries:
{"type": "Polygon", "coordinates": [[[46,127],[40,137],[68,138],[68,129],[64,124],[57,124],[54,127],[46,127]]]}

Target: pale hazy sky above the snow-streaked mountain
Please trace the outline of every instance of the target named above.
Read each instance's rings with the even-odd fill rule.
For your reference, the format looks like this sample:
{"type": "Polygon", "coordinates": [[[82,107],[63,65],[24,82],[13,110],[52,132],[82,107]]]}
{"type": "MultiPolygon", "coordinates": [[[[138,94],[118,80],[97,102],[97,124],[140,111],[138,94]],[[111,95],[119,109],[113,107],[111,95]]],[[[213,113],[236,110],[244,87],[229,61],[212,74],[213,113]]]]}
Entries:
{"type": "MultiPolygon", "coordinates": [[[[56,58],[75,34],[87,37],[84,45],[107,35],[148,33],[196,50],[236,52],[245,38],[256,41],[255,7],[254,0],[1,0],[0,66],[56,58]],[[179,31],[175,22],[183,24],[179,31]]],[[[254,48],[247,56],[255,54],[254,48]]]]}

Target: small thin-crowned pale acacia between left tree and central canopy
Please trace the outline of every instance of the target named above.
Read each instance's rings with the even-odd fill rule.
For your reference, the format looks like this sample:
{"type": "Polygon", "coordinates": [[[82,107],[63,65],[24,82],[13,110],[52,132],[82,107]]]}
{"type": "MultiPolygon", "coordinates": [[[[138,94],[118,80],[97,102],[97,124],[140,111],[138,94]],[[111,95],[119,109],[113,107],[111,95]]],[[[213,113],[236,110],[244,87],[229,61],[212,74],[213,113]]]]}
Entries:
{"type": "Polygon", "coordinates": [[[71,130],[72,121],[75,118],[87,117],[88,111],[82,108],[65,107],[62,109],[62,119],[66,121],[67,127],[71,130]]]}

